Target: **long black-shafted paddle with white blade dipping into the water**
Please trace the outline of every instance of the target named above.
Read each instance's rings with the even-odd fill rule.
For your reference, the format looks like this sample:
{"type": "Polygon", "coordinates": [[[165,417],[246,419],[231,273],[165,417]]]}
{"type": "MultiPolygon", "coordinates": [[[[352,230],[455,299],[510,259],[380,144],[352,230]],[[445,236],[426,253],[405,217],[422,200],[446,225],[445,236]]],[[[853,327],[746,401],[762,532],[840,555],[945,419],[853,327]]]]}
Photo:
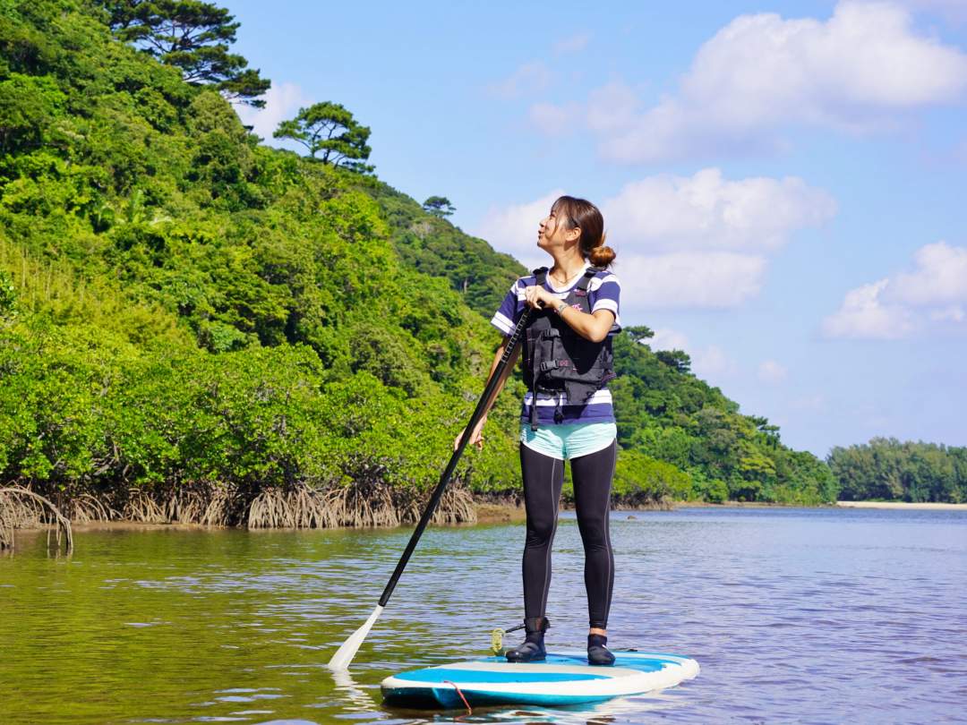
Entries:
{"type": "Polygon", "coordinates": [[[507,342],[507,347],[504,350],[504,355],[497,363],[497,367],[494,368],[493,374],[487,381],[486,387],[484,388],[484,394],[481,395],[481,399],[477,402],[477,407],[474,409],[474,414],[470,417],[470,422],[463,429],[463,436],[460,438],[460,443],[454,450],[454,454],[450,456],[450,463],[447,464],[446,470],[443,472],[443,476],[440,477],[440,482],[436,484],[436,488],[433,490],[433,495],[430,496],[429,504],[426,505],[426,510],[423,516],[420,517],[420,523],[417,524],[416,530],[413,532],[413,536],[410,536],[410,542],[406,544],[406,550],[403,555],[399,558],[399,563],[396,564],[396,570],[393,572],[393,576],[390,577],[390,581],[386,585],[386,589],[383,590],[383,595],[379,597],[379,604],[376,608],[372,610],[372,614],[369,615],[369,619],[363,624],[359,629],[350,635],[349,639],[342,643],[342,646],[333,655],[333,658],[329,660],[329,669],[331,670],[345,670],[349,667],[349,663],[353,661],[353,657],[356,656],[356,652],[359,652],[360,646],[363,644],[363,640],[366,639],[366,635],[369,630],[372,629],[372,625],[376,623],[379,619],[379,615],[383,612],[383,607],[390,600],[390,595],[393,594],[393,590],[396,589],[396,582],[399,581],[399,575],[403,573],[403,569],[406,567],[406,563],[410,561],[410,556],[413,554],[413,550],[417,547],[417,541],[420,540],[420,536],[423,536],[426,524],[429,523],[430,517],[433,515],[433,511],[436,510],[437,505],[440,503],[440,497],[443,496],[443,489],[447,487],[447,483],[450,482],[450,478],[454,475],[454,470],[456,469],[456,464],[460,460],[460,456],[463,454],[463,449],[467,447],[467,442],[470,440],[470,435],[473,429],[480,422],[481,418],[484,417],[484,410],[486,408],[487,400],[490,399],[490,395],[493,391],[497,389],[497,384],[500,381],[501,375],[503,375],[504,370],[507,368],[508,363],[513,356],[513,351],[517,347],[517,343],[520,342],[520,335],[524,332],[524,328],[527,327],[528,319],[531,316],[531,310],[533,308],[530,306],[524,307],[523,314],[520,316],[520,320],[517,322],[517,326],[513,329],[511,339],[507,342]]]}

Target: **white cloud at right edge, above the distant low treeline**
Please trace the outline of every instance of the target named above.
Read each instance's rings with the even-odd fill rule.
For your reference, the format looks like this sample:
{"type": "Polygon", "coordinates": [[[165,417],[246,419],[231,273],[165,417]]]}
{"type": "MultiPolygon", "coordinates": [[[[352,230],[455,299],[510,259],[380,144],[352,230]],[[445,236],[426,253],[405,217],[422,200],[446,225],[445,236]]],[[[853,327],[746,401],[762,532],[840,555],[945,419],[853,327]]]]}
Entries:
{"type": "Polygon", "coordinates": [[[914,253],[912,272],[847,292],[822,329],[829,337],[897,339],[923,330],[930,322],[963,322],[963,304],[967,304],[967,247],[938,242],[914,253]]]}

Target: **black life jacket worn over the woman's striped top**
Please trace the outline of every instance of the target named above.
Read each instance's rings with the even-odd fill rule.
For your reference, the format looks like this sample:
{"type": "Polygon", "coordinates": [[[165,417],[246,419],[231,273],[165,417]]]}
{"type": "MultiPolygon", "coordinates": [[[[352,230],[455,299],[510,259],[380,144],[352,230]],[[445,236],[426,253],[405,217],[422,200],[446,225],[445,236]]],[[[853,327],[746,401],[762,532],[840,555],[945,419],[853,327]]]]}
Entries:
{"type": "MultiPolygon", "coordinates": [[[[565,304],[591,314],[588,284],[601,272],[589,267],[571,289],[565,304]]],[[[547,278],[547,268],[534,270],[538,286],[547,278]]],[[[568,394],[569,404],[585,403],[609,380],[616,377],[611,338],[617,326],[601,342],[592,342],[575,333],[553,309],[535,309],[527,325],[524,345],[524,383],[531,391],[531,428],[538,428],[538,393],[557,394],[554,421],[562,422],[560,393],[568,394]]]]}

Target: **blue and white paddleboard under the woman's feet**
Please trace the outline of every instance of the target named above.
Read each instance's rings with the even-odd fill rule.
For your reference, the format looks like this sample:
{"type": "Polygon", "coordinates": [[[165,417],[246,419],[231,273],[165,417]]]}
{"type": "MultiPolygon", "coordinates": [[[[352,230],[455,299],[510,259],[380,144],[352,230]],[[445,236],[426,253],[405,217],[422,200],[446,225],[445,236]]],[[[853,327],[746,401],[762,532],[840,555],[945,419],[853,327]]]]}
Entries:
{"type": "Polygon", "coordinates": [[[678,654],[614,652],[611,666],[588,664],[586,652],[548,652],[543,662],[482,657],[407,670],[382,683],[387,704],[462,708],[474,705],[575,705],[671,687],[698,675],[698,662],[678,654]],[[460,697],[462,693],[463,697],[460,697]]]}

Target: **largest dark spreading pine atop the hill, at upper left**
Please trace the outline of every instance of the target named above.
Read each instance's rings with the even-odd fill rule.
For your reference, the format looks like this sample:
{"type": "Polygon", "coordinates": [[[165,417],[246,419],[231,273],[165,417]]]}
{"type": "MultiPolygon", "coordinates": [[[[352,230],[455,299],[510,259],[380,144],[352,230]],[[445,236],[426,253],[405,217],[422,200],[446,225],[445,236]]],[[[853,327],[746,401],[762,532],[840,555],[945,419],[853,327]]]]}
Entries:
{"type": "Polygon", "coordinates": [[[262,108],[272,84],[249,61],[228,52],[240,23],[200,0],[98,0],[114,35],[181,70],[189,83],[214,85],[226,98],[262,108]]]}

